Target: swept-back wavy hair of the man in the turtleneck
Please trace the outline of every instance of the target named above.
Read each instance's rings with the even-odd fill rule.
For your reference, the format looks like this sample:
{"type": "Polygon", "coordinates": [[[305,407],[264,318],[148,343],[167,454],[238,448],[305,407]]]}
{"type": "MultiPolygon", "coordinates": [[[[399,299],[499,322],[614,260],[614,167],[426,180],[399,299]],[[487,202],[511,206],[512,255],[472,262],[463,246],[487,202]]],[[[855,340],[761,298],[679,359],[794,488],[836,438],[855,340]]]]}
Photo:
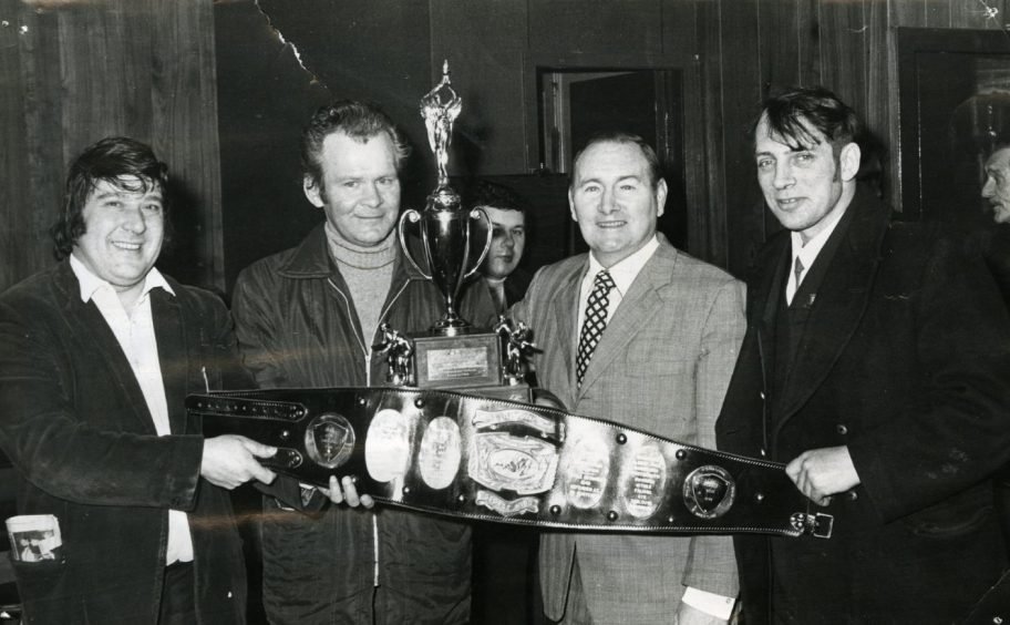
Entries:
{"type": "Polygon", "coordinates": [[[342,132],[360,143],[385,133],[393,143],[398,172],[403,170],[403,164],[410,156],[410,144],[406,139],[389,115],[375,104],[339,100],[320,106],[301,131],[301,166],[305,175],[319,186],[322,194],[326,193],[322,180],[322,142],[336,132],[342,132]]]}

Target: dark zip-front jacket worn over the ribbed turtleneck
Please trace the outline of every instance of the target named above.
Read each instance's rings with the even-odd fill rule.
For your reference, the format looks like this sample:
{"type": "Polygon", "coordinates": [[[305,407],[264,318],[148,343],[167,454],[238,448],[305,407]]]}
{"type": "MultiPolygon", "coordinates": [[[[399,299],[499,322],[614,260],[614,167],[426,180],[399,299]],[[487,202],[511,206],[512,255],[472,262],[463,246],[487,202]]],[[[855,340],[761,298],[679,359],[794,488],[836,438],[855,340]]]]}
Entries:
{"type": "MultiPolygon", "coordinates": [[[[465,287],[464,287],[465,288],[465,287]]],[[[402,254],[381,321],[400,332],[427,330],[444,312],[437,288],[402,254]]],[[[362,336],[347,284],[330,259],[322,226],[297,247],[245,269],[233,298],[239,347],[260,388],[387,385],[387,360],[362,336]]],[[[470,288],[461,315],[494,318],[486,287],[470,288]]],[[[453,623],[470,615],[471,530],[393,509],[322,506],[300,501],[280,479],[264,499],[264,603],[275,623],[453,623]]]]}

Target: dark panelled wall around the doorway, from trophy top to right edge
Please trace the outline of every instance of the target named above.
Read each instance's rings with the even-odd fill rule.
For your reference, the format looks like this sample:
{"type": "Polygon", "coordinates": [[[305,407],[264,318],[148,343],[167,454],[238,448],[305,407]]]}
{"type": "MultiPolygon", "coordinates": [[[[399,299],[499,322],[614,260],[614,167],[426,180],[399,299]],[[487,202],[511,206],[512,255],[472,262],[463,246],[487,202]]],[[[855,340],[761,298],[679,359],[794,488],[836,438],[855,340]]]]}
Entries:
{"type": "MultiPolygon", "coordinates": [[[[864,117],[883,147],[897,205],[895,29],[1010,30],[1010,0],[439,0],[431,66],[450,58],[467,102],[460,126],[478,173],[538,165],[536,68],[679,66],[701,133],[687,154],[690,252],[742,274],[779,226],[754,181],[748,136],[772,89],[822,84],[864,117]],[[522,143],[522,144],[521,144],[522,143]]],[[[1010,41],[1010,38],[1008,38],[1010,41]]]]}

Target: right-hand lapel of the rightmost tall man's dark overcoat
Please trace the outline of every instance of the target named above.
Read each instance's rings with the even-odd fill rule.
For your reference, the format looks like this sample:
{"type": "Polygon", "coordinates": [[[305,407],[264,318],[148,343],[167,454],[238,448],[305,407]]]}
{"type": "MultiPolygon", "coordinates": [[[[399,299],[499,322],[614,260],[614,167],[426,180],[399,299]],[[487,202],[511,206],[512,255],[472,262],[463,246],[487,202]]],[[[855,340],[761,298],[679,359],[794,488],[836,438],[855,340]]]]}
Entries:
{"type": "Polygon", "coordinates": [[[783,389],[776,433],[827,378],[863,319],[879,265],[878,250],[889,213],[857,195],[853,223],[824,275],[796,350],[793,372],[783,389]]]}

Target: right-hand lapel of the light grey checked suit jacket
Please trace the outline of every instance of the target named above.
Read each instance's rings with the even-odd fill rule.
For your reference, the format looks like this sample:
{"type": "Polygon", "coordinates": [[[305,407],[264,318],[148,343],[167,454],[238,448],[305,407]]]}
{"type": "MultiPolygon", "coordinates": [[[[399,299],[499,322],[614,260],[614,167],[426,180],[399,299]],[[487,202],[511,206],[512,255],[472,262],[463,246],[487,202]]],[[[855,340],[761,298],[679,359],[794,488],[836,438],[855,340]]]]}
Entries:
{"type": "Polygon", "coordinates": [[[669,276],[676,262],[677,249],[669,244],[661,244],[652,254],[652,258],[639,271],[638,277],[631,283],[631,288],[617,307],[614,318],[607,322],[607,328],[592,352],[589,367],[583,377],[583,386],[578,391],[579,398],[623,352],[625,347],[635,338],[635,335],[648,327],[648,319],[656,315],[662,306],[662,299],[657,290],[669,284],[669,276]]]}

